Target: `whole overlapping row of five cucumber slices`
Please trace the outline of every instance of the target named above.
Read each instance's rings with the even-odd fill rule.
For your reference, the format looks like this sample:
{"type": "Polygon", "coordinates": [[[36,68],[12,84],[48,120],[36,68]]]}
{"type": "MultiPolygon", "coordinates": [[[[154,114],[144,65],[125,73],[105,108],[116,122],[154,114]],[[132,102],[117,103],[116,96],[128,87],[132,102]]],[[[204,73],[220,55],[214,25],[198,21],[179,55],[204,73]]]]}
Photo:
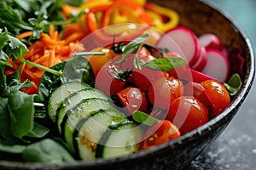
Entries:
{"type": "Polygon", "coordinates": [[[57,88],[48,111],[78,159],[123,156],[139,148],[140,127],[116,110],[107,95],[82,82],[57,88]]]}

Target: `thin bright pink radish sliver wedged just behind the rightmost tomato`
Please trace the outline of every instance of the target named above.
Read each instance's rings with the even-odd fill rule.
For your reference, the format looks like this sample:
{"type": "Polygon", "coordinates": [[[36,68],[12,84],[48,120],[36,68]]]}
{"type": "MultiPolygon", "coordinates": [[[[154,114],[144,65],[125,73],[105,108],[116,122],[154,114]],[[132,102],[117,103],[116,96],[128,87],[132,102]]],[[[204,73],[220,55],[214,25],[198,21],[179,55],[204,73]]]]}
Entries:
{"type": "Polygon", "coordinates": [[[206,80],[216,80],[213,77],[209,77],[200,71],[195,71],[194,69],[188,69],[188,71],[183,74],[182,77],[183,80],[186,80],[188,82],[204,82],[206,80]]]}

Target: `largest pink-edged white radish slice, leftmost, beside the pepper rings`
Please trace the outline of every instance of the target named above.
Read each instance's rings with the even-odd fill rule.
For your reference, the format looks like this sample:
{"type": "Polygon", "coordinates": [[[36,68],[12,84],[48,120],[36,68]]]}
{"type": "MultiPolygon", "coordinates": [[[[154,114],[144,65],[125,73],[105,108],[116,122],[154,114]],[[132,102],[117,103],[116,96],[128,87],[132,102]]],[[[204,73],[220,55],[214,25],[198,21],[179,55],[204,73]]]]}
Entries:
{"type": "Polygon", "coordinates": [[[166,48],[169,51],[183,54],[189,65],[194,65],[198,58],[199,45],[197,37],[193,31],[184,26],[177,26],[170,31],[166,31],[156,45],[159,48],[166,48]],[[176,47],[173,45],[174,42],[176,47]]]}

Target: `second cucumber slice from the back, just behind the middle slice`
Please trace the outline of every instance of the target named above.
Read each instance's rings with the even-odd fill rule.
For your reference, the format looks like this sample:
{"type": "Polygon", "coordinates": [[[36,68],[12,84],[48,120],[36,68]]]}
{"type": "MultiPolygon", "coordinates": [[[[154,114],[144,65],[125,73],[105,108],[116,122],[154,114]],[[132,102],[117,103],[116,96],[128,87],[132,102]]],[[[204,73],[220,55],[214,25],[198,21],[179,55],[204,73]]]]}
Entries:
{"type": "Polygon", "coordinates": [[[73,94],[70,94],[66,99],[64,99],[61,106],[57,109],[55,123],[61,133],[61,122],[70,109],[75,108],[75,106],[80,103],[83,99],[98,98],[109,101],[108,96],[103,94],[101,91],[96,90],[95,88],[85,88],[79,90],[73,94]]]}

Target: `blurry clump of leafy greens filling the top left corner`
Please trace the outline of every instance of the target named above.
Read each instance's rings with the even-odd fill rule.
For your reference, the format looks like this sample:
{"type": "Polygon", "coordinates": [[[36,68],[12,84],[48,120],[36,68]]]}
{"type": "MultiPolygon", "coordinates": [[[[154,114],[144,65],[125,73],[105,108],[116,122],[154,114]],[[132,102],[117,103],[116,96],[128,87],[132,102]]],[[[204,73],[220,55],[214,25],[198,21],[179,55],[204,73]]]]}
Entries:
{"type": "Polygon", "coordinates": [[[32,39],[48,32],[52,20],[64,20],[61,14],[62,0],[3,0],[0,2],[0,26],[13,35],[33,31],[32,39]],[[49,17],[50,16],[50,17],[49,17]]]}

